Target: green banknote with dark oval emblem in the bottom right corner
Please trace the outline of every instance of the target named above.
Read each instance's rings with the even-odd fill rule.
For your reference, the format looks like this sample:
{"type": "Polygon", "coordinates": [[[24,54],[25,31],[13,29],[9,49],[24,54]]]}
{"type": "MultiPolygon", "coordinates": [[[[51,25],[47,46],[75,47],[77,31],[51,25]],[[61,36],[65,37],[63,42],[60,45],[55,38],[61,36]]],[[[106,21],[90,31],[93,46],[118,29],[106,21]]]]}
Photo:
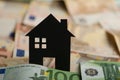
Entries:
{"type": "Polygon", "coordinates": [[[120,63],[89,61],[81,63],[82,80],[120,80],[120,63]]]}

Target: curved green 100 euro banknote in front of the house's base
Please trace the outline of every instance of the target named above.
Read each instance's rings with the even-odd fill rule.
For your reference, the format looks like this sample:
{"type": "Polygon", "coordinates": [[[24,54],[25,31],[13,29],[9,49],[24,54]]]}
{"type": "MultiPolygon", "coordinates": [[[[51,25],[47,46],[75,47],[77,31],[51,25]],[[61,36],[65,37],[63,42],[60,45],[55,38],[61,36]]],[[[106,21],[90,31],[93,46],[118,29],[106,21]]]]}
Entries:
{"type": "Polygon", "coordinates": [[[0,80],[80,80],[77,73],[23,64],[0,69],[0,80]]]}

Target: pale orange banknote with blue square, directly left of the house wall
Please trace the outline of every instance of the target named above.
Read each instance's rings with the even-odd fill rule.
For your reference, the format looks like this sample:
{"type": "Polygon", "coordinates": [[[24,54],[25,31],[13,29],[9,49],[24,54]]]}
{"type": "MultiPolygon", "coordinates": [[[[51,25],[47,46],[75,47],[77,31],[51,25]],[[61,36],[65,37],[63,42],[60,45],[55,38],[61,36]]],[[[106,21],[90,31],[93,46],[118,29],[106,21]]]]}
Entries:
{"type": "Polygon", "coordinates": [[[29,39],[25,34],[27,34],[31,29],[31,27],[27,27],[19,23],[16,25],[13,58],[29,57],[29,39]]]}

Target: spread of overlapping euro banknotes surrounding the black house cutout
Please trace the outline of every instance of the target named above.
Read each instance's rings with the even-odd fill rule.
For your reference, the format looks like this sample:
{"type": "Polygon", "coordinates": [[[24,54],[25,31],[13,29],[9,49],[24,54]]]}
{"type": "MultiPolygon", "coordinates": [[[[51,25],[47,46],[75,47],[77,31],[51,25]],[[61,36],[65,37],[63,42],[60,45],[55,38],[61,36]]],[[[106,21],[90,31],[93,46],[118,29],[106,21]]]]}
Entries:
{"type": "Polygon", "coordinates": [[[0,0],[0,80],[120,80],[119,66],[120,0],[0,0]],[[50,13],[75,35],[69,72],[29,63],[25,34],[50,13]]]}

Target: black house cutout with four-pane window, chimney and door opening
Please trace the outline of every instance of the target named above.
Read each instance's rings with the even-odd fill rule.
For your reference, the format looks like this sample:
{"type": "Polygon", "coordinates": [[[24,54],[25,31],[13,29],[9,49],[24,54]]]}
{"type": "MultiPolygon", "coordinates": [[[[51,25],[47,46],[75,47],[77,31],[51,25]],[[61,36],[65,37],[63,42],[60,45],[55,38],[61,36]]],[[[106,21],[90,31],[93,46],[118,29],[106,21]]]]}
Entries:
{"type": "Polygon", "coordinates": [[[70,43],[67,20],[59,22],[52,14],[33,28],[29,36],[29,62],[43,65],[43,57],[54,57],[56,69],[69,71],[70,43]]]}

